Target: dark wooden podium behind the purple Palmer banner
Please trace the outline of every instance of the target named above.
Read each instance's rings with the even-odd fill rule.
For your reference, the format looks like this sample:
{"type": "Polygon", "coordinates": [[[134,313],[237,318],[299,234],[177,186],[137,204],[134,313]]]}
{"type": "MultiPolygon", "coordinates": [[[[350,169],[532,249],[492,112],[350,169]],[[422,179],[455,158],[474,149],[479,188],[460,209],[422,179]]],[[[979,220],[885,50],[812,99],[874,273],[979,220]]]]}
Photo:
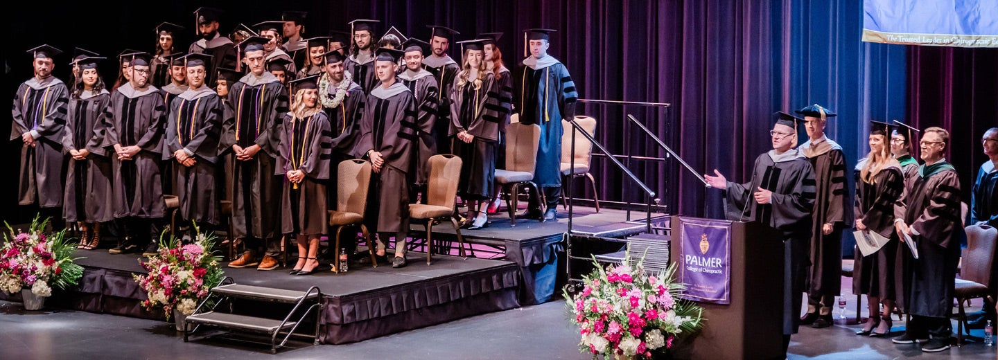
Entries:
{"type": "MultiPolygon", "coordinates": [[[[672,219],[670,260],[684,266],[679,217],[672,219]]],[[[677,358],[784,357],[783,241],[776,229],[756,222],[732,221],[731,235],[731,303],[697,303],[707,320],[698,334],[674,347],[677,358]]]]}

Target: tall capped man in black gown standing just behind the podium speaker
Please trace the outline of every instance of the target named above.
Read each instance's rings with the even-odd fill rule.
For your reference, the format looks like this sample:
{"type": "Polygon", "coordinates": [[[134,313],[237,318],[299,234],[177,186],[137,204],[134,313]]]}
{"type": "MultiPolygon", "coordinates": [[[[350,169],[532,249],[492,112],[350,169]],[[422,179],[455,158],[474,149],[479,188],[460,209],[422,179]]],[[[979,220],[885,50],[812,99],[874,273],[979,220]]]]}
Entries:
{"type": "Polygon", "coordinates": [[[806,120],[809,139],[798,149],[814,168],[817,191],[807,274],[807,313],[800,323],[823,328],[832,325],[831,309],[842,287],[842,229],[853,222],[846,187],[848,167],[842,148],[824,134],[827,119],[835,117],[835,113],[817,104],[796,113],[806,120]]]}

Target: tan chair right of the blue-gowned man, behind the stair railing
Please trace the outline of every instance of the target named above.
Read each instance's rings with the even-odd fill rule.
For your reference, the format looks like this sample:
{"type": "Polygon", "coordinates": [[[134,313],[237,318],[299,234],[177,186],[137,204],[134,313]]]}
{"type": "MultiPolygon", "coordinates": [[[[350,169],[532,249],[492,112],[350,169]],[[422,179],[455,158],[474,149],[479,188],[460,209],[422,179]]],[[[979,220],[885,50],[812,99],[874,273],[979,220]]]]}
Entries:
{"type": "MultiPolygon", "coordinates": [[[[575,122],[586,133],[596,136],[596,119],[578,116],[575,117],[575,122]]],[[[593,175],[589,173],[589,165],[593,160],[593,142],[586,139],[579,131],[575,131],[575,170],[572,171],[569,168],[572,167],[573,127],[568,121],[562,120],[562,128],[565,129],[565,133],[562,134],[562,187],[565,186],[565,180],[571,181],[575,178],[586,177],[593,186],[593,202],[596,204],[596,212],[600,212],[600,194],[596,191],[596,179],[593,179],[593,175]]],[[[569,193],[568,195],[571,196],[572,194],[569,193]]],[[[565,204],[565,197],[562,196],[563,205],[565,204]]]]}

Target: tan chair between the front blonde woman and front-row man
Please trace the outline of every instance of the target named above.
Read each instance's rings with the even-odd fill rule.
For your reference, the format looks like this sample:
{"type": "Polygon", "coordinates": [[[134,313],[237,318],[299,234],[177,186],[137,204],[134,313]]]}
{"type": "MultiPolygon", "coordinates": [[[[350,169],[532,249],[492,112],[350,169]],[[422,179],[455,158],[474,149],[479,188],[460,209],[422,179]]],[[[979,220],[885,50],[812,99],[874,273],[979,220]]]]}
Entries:
{"type": "MultiPolygon", "coordinates": [[[[371,164],[363,160],[347,160],[339,163],[336,179],[336,209],[329,210],[329,226],[336,227],[333,240],[332,271],[339,272],[339,234],[343,227],[360,225],[360,232],[367,242],[367,252],[371,264],[377,267],[374,251],[377,246],[371,240],[367,226],[364,226],[364,209],[367,207],[367,190],[370,187],[371,164]]],[[[355,232],[354,232],[355,233],[355,232]]]]}

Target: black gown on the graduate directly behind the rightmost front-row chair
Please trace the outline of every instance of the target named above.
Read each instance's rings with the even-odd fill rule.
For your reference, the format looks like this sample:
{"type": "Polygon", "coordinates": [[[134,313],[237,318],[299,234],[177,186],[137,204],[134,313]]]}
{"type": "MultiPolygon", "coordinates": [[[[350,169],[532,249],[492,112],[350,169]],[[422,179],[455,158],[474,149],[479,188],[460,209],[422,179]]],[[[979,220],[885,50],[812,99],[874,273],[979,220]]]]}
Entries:
{"type": "Polygon", "coordinates": [[[419,137],[419,145],[413,152],[416,170],[415,174],[410,175],[410,178],[413,178],[412,183],[424,185],[429,177],[429,169],[427,168],[429,159],[438,154],[433,125],[436,123],[438,113],[437,102],[439,101],[440,89],[433,74],[423,69],[420,69],[415,75],[402,72],[398,79],[412,92],[416,109],[419,112],[416,115],[416,127],[419,128],[416,136],[419,137]]]}

